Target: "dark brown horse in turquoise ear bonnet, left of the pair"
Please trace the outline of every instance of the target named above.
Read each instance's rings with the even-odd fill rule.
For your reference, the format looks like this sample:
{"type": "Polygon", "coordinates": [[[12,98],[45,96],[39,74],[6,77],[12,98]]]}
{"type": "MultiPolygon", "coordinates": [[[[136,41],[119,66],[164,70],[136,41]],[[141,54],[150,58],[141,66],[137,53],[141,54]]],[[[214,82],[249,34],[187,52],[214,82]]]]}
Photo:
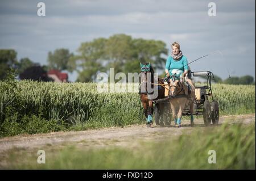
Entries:
{"type": "MultiPolygon", "coordinates": [[[[163,85],[164,83],[163,79],[158,78],[158,80],[156,80],[156,78],[154,78],[154,69],[150,63],[144,65],[141,64],[141,88],[139,90],[139,94],[141,95],[144,115],[147,119],[147,125],[149,126],[152,124],[152,113],[154,111],[153,101],[159,98],[164,98],[164,88],[162,86],[155,85],[154,81],[156,84],[163,85]],[[152,96],[154,93],[158,93],[156,97],[152,96]]],[[[162,113],[163,105],[156,104],[156,106],[158,106],[158,110],[162,113]]]]}

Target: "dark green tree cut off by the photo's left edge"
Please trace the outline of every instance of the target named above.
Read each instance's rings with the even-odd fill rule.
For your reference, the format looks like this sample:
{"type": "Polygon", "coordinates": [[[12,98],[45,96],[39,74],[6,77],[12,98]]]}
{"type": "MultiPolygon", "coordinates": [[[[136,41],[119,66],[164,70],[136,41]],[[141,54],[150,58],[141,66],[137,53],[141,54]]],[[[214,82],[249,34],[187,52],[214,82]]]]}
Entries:
{"type": "Polygon", "coordinates": [[[16,68],[18,61],[16,60],[17,53],[13,49],[0,49],[0,79],[6,77],[6,73],[11,68],[16,68]]]}

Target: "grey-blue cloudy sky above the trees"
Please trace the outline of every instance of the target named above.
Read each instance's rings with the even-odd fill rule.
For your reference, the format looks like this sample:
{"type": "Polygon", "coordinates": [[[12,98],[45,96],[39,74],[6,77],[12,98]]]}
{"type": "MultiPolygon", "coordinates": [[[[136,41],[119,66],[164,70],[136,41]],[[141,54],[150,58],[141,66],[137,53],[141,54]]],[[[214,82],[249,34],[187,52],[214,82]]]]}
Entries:
{"type": "MultiPolygon", "coordinates": [[[[191,70],[255,79],[254,0],[0,0],[0,49],[15,49],[18,60],[46,65],[49,51],[67,48],[77,54],[81,43],[117,33],[162,40],[169,53],[177,41],[188,62],[214,52],[190,64],[191,70]],[[45,3],[46,16],[38,16],[39,2],[45,3]],[[210,2],[216,16],[208,14],[210,2]]],[[[69,73],[69,81],[76,76],[69,73]]]]}

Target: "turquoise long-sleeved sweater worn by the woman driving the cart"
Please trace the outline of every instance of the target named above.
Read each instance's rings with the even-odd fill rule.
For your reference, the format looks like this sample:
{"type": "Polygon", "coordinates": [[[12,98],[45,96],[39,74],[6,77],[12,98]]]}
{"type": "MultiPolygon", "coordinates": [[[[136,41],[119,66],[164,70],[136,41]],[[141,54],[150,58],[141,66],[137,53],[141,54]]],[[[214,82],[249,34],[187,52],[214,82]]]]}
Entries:
{"type": "Polygon", "coordinates": [[[168,56],[166,60],[166,69],[170,75],[175,74],[180,77],[185,70],[188,70],[188,60],[183,55],[179,60],[174,60],[171,56],[168,56]]]}

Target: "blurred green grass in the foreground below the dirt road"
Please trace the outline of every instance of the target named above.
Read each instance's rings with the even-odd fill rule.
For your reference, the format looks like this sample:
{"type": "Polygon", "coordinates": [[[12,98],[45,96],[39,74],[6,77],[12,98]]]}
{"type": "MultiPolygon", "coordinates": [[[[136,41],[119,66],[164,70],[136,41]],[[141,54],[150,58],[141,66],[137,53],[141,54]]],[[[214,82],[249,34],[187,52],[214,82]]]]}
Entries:
{"type": "Polygon", "coordinates": [[[23,152],[9,154],[8,169],[255,169],[255,123],[225,124],[177,139],[143,141],[136,149],[126,145],[46,150],[46,164],[36,163],[36,151],[23,152]],[[208,162],[209,150],[216,151],[216,163],[208,162]]]}

